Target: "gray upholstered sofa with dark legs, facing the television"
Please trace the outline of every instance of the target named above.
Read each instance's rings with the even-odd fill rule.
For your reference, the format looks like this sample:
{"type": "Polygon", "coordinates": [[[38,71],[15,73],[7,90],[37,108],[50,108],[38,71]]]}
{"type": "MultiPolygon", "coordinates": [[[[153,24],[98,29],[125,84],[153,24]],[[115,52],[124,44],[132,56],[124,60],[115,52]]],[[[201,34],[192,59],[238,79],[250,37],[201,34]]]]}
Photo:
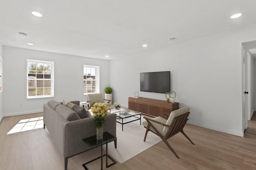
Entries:
{"type": "MultiPolygon", "coordinates": [[[[79,101],[72,101],[71,103],[80,105],[79,101]]],[[[68,158],[93,149],[82,139],[96,135],[94,117],[80,119],[75,111],[55,100],[50,100],[44,104],[43,110],[44,128],[46,126],[52,140],[64,156],[64,168],[67,170],[68,158]]],[[[116,114],[106,116],[103,131],[108,131],[116,137],[116,114]]],[[[114,141],[114,145],[116,148],[116,141],[114,141]]]]}

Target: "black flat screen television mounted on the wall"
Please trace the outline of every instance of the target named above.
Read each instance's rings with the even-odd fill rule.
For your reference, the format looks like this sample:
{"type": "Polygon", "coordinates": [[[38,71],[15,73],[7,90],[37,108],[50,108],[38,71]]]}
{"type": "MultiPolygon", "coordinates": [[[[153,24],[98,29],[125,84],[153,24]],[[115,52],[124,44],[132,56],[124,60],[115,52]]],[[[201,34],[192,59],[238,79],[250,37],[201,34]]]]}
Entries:
{"type": "Polygon", "coordinates": [[[141,72],[140,91],[154,93],[170,92],[170,71],[141,72]]]}

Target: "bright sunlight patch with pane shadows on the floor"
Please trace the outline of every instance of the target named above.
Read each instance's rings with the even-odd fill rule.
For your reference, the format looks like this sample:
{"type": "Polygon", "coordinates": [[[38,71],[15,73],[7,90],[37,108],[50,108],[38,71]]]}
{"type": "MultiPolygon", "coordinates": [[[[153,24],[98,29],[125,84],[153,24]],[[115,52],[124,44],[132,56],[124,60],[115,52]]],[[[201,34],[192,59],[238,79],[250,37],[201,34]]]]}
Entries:
{"type": "Polygon", "coordinates": [[[20,120],[7,134],[30,131],[44,127],[43,117],[20,120]]]}

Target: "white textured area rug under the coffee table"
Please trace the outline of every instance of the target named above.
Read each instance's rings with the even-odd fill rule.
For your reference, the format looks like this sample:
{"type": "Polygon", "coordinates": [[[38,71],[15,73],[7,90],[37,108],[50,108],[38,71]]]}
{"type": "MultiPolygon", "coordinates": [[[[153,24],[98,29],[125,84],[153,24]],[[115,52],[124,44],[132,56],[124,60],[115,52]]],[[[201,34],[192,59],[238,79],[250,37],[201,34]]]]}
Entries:
{"type": "MultiPolygon", "coordinates": [[[[142,118],[141,120],[144,121],[145,119],[142,118]]],[[[109,143],[108,154],[122,164],[126,160],[162,141],[157,135],[148,132],[146,142],[144,142],[145,132],[146,128],[140,125],[139,120],[125,124],[124,131],[122,131],[122,125],[116,123],[117,148],[115,149],[114,142],[109,143]]],[[[106,150],[106,146],[104,145],[103,147],[106,150]]]]}

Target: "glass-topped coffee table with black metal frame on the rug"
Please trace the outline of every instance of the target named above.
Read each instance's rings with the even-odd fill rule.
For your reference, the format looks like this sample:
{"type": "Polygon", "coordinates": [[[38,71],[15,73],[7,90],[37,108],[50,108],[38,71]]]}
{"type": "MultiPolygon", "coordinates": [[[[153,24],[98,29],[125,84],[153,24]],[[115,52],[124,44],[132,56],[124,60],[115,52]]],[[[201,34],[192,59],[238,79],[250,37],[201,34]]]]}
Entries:
{"type": "Polygon", "coordinates": [[[138,111],[133,111],[133,110],[121,107],[118,110],[111,109],[111,113],[116,114],[116,119],[117,119],[116,122],[122,124],[122,131],[124,131],[124,124],[126,123],[131,123],[133,121],[140,120],[140,125],[141,125],[141,113],[138,111]],[[127,119],[127,118],[131,118],[131,119],[127,119]]]}

